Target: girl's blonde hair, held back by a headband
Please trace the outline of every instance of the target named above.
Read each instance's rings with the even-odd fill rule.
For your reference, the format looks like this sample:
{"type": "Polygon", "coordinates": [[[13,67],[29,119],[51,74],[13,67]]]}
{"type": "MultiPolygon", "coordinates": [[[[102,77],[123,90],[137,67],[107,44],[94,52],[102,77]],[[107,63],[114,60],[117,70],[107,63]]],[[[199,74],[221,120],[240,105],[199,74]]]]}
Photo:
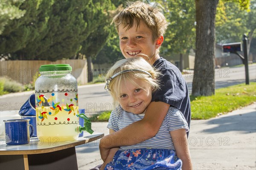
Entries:
{"type": "MultiPolygon", "coordinates": [[[[157,70],[154,70],[154,68],[148,62],[146,62],[145,59],[143,59],[142,57],[134,57],[129,59],[121,59],[117,61],[108,70],[106,74],[106,79],[107,79],[109,93],[113,97],[113,102],[117,103],[119,102],[118,95],[120,94],[120,91],[121,91],[121,82],[125,83],[125,81],[130,81],[134,85],[137,85],[137,83],[134,81],[134,78],[140,79],[145,83],[151,85],[152,92],[154,92],[155,90],[160,89],[159,80],[157,79],[157,77],[159,76],[160,76],[160,72],[157,70]],[[108,81],[108,79],[113,77],[113,75],[121,71],[127,71],[127,70],[135,70],[135,71],[129,71],[129,72],[119,74],[118,76],[108,81]],[[140,71],[136,71],[136,70],[140,70],[140,71]],[[146,71],[151,76],[141,71],[146,71]]],[[[140,86],[138,85],[138,87],[140,86]]]]}

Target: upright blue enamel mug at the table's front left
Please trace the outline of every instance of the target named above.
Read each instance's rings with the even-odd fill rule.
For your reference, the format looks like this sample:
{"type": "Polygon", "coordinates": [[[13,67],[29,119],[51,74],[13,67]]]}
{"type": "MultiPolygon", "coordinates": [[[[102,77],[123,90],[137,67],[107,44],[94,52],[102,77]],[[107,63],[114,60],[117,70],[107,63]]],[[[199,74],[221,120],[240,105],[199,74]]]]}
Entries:
{"type": "Polygon", "coordinates": [[[28,144],[33,136],[34,128],[29,125],[29,119],[4,120],[6,144],[28,144]],[[29,129],[31,132],[29,133],[29,129]]]}

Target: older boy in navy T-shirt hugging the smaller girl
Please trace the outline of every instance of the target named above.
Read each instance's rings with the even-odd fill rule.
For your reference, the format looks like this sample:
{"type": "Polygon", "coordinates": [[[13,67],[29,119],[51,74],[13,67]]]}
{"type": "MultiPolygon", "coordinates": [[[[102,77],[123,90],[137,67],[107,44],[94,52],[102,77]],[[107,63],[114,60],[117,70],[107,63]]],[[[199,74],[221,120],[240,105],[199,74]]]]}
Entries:
{"type": "MultiPolygon", "coordinates": [[[[143,57],[163,75],[160,76],[161,89],[154,92],[144,118],[101,139],[99,149],[103,161],[107,157],[107,161],[110,161],[113,157],[111,148],[137,144],[154,137],[170,106],[183,113],[189,126],[191,119],[189,91],[185,80],[175,65],[159,56],[163,34],[168,25],[160,9],[156,5],[136,1],[120,11],[113,18],[113,23],[119,34],[119,45],[124,57],[143,57]]],[[[180,142],[187,138],[186,133],[182,135],[180,142]]]]}

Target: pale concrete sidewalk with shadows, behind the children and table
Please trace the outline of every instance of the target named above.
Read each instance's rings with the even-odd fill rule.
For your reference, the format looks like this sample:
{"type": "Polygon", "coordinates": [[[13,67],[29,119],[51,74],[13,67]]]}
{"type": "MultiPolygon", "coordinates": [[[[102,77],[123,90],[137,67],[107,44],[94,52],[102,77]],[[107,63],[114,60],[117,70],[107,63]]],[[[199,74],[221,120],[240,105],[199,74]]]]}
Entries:
{"type": "MultiPolygon", "coordinates": [[[[108,134],[107,122],[93,122],[108,134]]],[[[192,120],[189,148],[194,170],[256,170],[256,103],[208,120],[192,120]]],[[[76,147],[79,170],[102,163],[99,140],[76,147]]]]}

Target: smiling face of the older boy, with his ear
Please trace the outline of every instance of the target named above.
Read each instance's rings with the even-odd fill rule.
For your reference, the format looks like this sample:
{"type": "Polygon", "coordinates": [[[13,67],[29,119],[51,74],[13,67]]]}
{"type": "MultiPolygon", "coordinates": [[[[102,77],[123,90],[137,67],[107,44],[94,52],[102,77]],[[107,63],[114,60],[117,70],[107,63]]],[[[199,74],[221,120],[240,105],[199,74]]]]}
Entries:
{"type": "Polygon", "coordinates": [[[122,54],[125,58],[132,58],[137,55],[137,57],[143,57],[149,63],[153,64],[159,55],[156,54],[157,40],[153,42],[151,30],[140,21],[140,25],[134,23],[133,26],[127,30],[124,25],[119,26],[119,46],[122,54]],[[140,56],[139,54],[145,54],[146,56],[140,56]]]}

